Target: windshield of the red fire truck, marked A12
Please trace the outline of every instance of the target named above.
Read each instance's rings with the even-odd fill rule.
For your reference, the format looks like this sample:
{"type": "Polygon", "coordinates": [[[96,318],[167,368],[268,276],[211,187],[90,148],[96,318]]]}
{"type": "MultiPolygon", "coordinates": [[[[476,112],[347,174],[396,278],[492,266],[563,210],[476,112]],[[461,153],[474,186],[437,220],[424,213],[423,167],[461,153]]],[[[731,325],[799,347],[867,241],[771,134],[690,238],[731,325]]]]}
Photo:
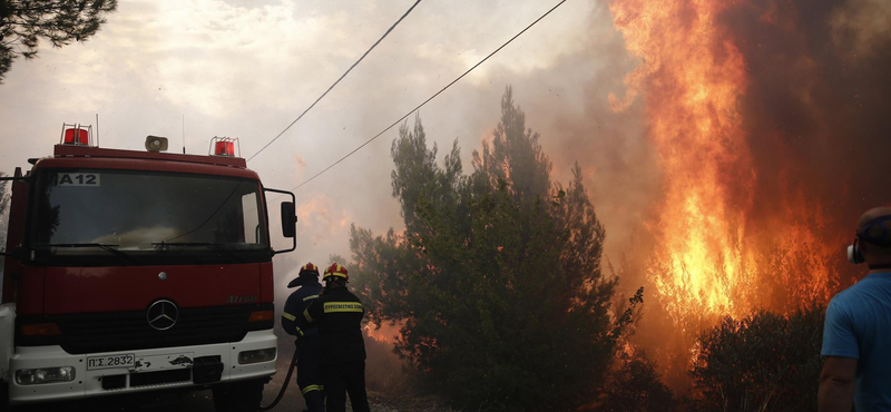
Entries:
{"type": "Polygon", "coordinates": [[[257,180],[106,169],[36,174],[29,244],[47,265],[268,259],[257,180]]]}

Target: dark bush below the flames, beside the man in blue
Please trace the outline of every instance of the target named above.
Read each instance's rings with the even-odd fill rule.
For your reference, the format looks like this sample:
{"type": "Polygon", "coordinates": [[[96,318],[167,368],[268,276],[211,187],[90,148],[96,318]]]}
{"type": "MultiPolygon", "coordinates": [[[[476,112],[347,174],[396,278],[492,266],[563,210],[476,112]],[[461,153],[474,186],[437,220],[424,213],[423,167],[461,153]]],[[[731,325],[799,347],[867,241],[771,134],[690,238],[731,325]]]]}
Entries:
{"type": "Polygon", "coordinates": [[[699,411],[815,411],[824,307],[725,318],[698,339],[699,411]]]}

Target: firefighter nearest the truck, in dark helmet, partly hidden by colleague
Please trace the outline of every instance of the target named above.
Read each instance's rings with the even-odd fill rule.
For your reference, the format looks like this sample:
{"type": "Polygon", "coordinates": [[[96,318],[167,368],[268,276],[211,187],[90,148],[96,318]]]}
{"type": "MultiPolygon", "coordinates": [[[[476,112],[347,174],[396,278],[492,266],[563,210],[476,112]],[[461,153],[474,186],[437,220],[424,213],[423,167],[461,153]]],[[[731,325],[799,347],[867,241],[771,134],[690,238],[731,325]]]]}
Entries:
{"type": "Polygon", "coordinates": [[[323,412],[325,398],[322,393],[321,343],[319,330],[314,325],[301,327],[297,316],[310,307],[322,293],[319,283],[319,267],[307,263],[300,268],[297,278],[291,281],[287,287],[297,287],[285,302],[282,312],[282,327],[285,332],[297,337],[297,386],[306,402],[310,412],[323,412]]]}

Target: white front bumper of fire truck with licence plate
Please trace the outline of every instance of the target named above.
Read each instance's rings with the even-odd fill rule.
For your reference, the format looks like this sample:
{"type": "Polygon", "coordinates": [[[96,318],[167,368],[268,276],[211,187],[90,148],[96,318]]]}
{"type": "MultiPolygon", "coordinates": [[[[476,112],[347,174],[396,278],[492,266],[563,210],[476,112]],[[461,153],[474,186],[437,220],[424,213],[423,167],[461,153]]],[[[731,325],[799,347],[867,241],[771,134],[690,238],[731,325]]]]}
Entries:
{"type": "Polygon", "coordinates": [[[10,359],[12,404],[77,400],[275,374],[272,330],[248,332],[241,342],[71,355],[60,346],[16,347],[10,359]],[[42,382],[42,383],[41,383],[42,382]]]}

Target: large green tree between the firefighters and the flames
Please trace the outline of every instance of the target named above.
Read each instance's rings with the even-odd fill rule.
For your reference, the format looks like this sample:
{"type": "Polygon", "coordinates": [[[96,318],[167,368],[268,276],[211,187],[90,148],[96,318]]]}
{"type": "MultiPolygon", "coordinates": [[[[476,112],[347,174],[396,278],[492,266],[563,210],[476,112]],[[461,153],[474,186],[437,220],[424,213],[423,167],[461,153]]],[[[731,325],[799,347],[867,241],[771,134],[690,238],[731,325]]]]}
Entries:
{"type": "Polygon", "coordinates": [[[391,177],[407,229],[352,227],[354,287],[371,322],[404,322],[396,352],[453,404],[568,410],[596,396],[630,316],[610,316],[617,281],[601,275],[580,169],[552,184],[510,88],[501,109],[469,176],[457,143],[440,167],[420,118],[400,129],[391,177]]]}

